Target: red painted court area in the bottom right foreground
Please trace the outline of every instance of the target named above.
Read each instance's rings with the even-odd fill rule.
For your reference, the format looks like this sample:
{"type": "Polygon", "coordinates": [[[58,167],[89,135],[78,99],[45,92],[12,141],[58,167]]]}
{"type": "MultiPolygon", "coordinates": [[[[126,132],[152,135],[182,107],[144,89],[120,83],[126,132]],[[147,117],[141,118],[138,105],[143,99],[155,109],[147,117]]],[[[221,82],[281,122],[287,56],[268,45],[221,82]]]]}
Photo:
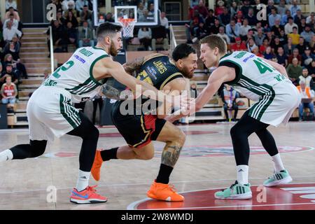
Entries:
{"type": "Polygon", "coordinates": [[[182,193],[184,202],[142,200],[128,209],[192,209],[192,210],[314,210],[315,183],[296,183],[264,188],[252,186],[251,200],[217,200],[214,193],[221,189],[182,193]]]}

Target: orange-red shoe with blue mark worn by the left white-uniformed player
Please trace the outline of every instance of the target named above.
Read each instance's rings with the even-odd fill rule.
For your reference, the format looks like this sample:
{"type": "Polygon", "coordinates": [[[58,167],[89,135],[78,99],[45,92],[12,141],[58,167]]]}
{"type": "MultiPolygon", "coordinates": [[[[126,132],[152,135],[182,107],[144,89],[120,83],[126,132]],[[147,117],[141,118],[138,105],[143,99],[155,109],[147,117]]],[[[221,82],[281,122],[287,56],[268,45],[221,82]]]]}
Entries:
{"type": "Polygon", "coordinates": [[[71,191],[70,202],[76,204],[94,204],[107,202],[107,198],[96,193],[97,186],[87,186],[84,190],[78,192],[76,188],[71,191]]]}

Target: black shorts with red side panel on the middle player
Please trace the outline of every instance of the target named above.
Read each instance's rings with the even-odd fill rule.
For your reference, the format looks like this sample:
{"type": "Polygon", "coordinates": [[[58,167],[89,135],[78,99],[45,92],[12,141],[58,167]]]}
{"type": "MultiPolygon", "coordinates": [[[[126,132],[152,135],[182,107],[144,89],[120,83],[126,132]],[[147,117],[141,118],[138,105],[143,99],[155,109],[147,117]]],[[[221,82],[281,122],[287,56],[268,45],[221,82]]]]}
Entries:
{"type": "Polygon", "coordinates": [[[120,134],[123,135],[127,144],[134,148],[146,146],[151,141],[155,141],[166,120],[160,119],[152,114],[127,114],[123,115],[120,105],[124,101],[117,101],[111,110],[111,119],[120,134]]]}

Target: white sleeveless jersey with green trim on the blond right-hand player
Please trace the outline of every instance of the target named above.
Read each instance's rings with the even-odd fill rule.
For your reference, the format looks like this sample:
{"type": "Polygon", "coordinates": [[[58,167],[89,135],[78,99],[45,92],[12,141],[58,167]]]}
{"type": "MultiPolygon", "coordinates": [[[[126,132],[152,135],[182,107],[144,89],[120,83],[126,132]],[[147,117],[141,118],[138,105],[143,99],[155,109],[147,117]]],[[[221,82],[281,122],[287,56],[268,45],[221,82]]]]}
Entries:
{"type": "Polygon", "coordinates": [[[262,95],[273,92],[273,87],[280,82],[290,82],[286,76],[274,69],[260,57],[246,51],[235,51],[221,57],[219,66],[231,62],[239,67],[235,80],[227,84],[233,85],[235,90],[245,97],[258,101],[262,95]]]}

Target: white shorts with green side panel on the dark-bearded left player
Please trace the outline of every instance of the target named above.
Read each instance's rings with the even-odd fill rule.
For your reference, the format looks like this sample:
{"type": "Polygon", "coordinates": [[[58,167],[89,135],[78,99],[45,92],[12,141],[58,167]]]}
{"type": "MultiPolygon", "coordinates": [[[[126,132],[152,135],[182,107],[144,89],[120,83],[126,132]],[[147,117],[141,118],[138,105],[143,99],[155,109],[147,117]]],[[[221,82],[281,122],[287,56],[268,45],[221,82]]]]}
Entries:
{"type": "Polygon", "coordinates": [[[29,138],[38,141],[62,137],[81,123],[78,109],[72,106],[71,93],[43,85],[27,103],[27,119],[29,138]]]}

